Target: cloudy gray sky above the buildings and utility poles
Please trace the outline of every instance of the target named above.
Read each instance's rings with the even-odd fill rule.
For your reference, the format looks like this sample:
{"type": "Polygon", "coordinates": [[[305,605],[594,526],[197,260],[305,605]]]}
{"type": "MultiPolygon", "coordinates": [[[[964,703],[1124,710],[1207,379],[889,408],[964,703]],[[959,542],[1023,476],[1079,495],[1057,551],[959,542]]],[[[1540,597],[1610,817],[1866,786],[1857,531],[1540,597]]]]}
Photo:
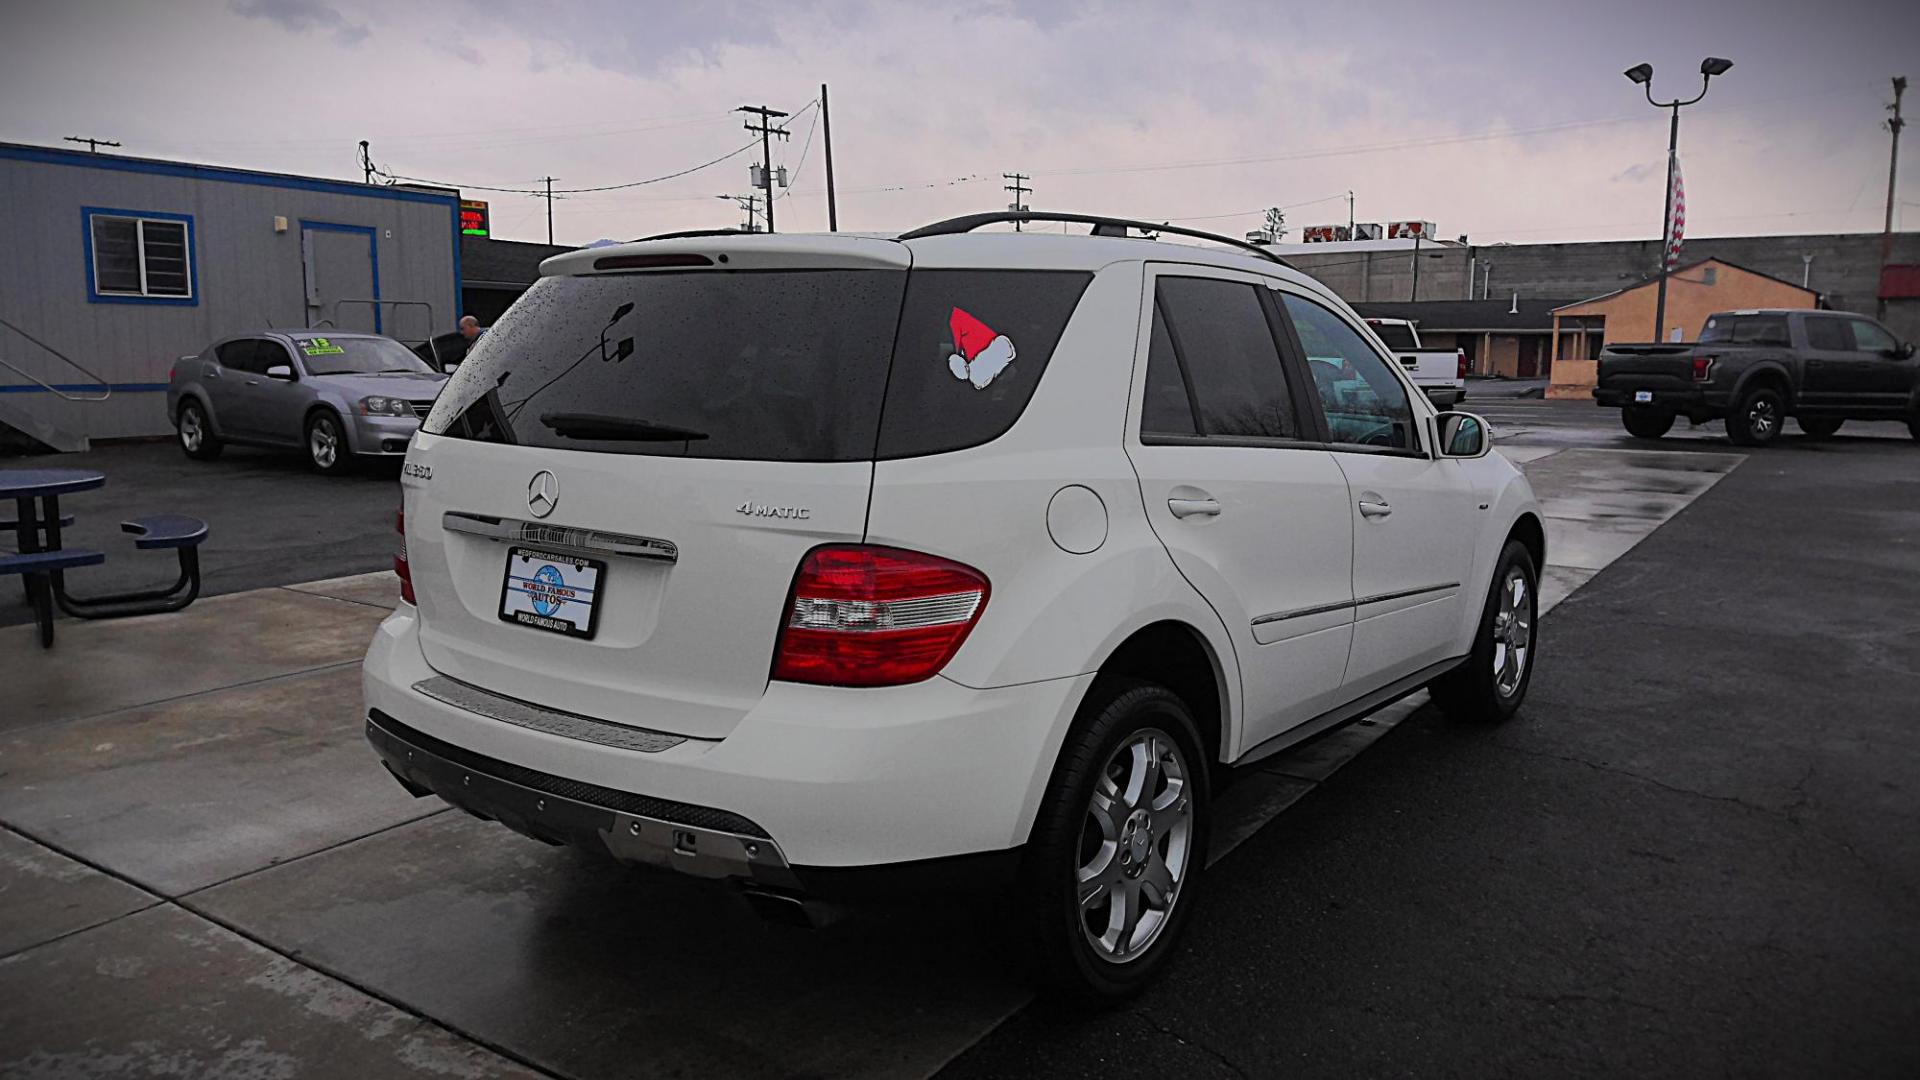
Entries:
{"type": "MultiPolygon", "coordinates": [[[[1878,231],[1887,77],[1920,75],[1901,0],[0,0],[0,140],[359,179],[367,138],[518,240],[545,202],[480,184],[678,173],[749,144],[741,104],[795,113],[776,219],[824,229],[820,83],[843,229],[998,209],[1023,171],[1041,209],[1223,233],[1344,221],[1352,190],[1475,242],[1653,236],[1667,117],[1620,71],[1692,96],[1709,54],[1736,65],[1682,117],[1690,234],[1878,231]]],[[[555,200],[555,238],[733,225],[756,156],[555,200]]]]}

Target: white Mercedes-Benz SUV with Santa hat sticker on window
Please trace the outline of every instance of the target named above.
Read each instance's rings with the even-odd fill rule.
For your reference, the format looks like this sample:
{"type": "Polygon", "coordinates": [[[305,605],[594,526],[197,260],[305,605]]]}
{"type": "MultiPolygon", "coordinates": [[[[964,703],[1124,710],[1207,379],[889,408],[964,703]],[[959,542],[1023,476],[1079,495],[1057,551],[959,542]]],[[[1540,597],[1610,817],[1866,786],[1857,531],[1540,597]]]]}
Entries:
{"type": "Polygon", "coordinates": [[[1521,705],[1546,555],[1332,292],[1140,227],[547,259],[407,452],[386,767],[760,905],[998,882],[1044,980],[1137,990],[1233,765],[1521,705]]]}

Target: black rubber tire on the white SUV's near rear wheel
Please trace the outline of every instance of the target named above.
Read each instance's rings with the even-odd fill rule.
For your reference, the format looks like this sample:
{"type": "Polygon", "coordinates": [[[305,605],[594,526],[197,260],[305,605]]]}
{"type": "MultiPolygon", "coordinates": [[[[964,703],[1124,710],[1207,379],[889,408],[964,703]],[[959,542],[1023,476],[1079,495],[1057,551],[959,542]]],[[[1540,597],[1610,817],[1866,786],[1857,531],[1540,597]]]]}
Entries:
{"type": "MultiPolygon", "coordinates": [[[[1150,753],[1131,755],[1129,761],[1150,757],[1150,753]]],[[[1208,767],[1192,713],[1165,686],[1131,678],[1102,680],[1087,694],[1087,701],[1060,748],[1060,759],[1054,763],[1054,774],[1033,821],[1033,836],[1020,874],[1021,917],[1033,938],[1031,957],[1043,986],[1083,1001],[1116,1001],[1137,994],[1167,963],[1192,917],[1200,876],[1206,869],[1212,824],[1208,767]],[[1144,824],[1139,830],[1119,832],[1137,840],[1131,846],[1121,840],[1108,851],[1102,844],[1102,832],[1108,830],[1102,830],[1094,819],[1094,790],[1102,776],[1112,774],[1110,769],[1119,761],[1116,755],[1123,748],[1156,734],[1165,736],[1179,751],[1175,761],[1183,771],[1181,788],[1175,792],[1171,771],[1162,765],[1154,773],[1154,792],[1148,792],[1142,809],[1135,809],[1123,819],[1129,824],[1140,824],[1144,815],[1144,824]],[[1158,799],[1169,796],[1173,801],[1158,805],[1158,799]],[[1165,819],[1179,813],[1183,805],[1187,813],[1185,838],[1179,836],[1179,826],[1156,832],[1154,815],[1162,815],[1158,824],[1165,826],[1165,819]],[[1139,840],[1140,832],[1144,832],[1144,840],[1139,840]],[[1137,849],[1146,855],[1135,855],[1137,849]],[[1173,888],[1160,894],[1165,899],[1160,920],[1148,924],[1144,917],[1140,919],[1135,934],[1144,932],[1144,940],[1131,947],[1131,955],[1106,955],[1102,945],[1091,940],[1089,922],[1112,919],[1116,911],[1112,901],[1081,907],[1081,869],[1091,867],[1106,853],[1110,871],[1100,876],[1112,872],[1112,876],[1121,878],[1112,888],[1135,890],[1131,896],[1144,903],[1148,915],[1154,915],[1152,896],[1146,892],[1154,888],[1150,884],[1152,867],[1165,867],[1175,851],[1185,851],[1185,859],[1181,872],[1165,878],[1173,882],[1173,888]],[[1133,865],[1121,867],[1127,859],[1133,865]],[[1144,878],[1142,871],[1146,871],[1144,878]]],[[[1125,767],[1121,771],[1127,773],[1125,767]]],[[[1144,784],[1142,790],[1146,790],[1144,784]]],[[[1116,809],[1123,811],[1125,805],[1116,809]]],[[[1117,942],[1119,934],[1114,936],[1117,942]]]]}

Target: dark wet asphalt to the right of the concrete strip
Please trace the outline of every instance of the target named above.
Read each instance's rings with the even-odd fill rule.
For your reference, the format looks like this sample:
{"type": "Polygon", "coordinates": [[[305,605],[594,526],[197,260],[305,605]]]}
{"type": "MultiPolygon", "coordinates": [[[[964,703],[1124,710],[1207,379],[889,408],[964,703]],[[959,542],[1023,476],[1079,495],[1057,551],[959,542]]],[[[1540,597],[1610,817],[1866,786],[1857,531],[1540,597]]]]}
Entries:
{"type": "Polygon", "coordinates": [[[1164,982],[941,1076],[1920,1074],[1920,446],[1749,457],[1540,640],[1513,723],[1213,867],[1164,982]]]}

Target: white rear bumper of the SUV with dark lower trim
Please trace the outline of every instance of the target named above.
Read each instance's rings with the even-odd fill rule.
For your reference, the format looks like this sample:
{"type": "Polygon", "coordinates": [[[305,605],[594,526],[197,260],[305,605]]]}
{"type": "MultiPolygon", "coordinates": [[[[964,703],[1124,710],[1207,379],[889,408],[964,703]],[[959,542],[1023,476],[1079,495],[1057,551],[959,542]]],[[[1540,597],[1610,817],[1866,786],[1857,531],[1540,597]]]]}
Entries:
{"type": "Polygon", "coordinates": [[[724,740],[636,749],[419,690],[438,673],[417,626],[413,609],[396,611],[363,667],[367,738],[415,794],[630,863],[824,896],[1008,865],[1092,682],[774,682],[724,740]]]}

